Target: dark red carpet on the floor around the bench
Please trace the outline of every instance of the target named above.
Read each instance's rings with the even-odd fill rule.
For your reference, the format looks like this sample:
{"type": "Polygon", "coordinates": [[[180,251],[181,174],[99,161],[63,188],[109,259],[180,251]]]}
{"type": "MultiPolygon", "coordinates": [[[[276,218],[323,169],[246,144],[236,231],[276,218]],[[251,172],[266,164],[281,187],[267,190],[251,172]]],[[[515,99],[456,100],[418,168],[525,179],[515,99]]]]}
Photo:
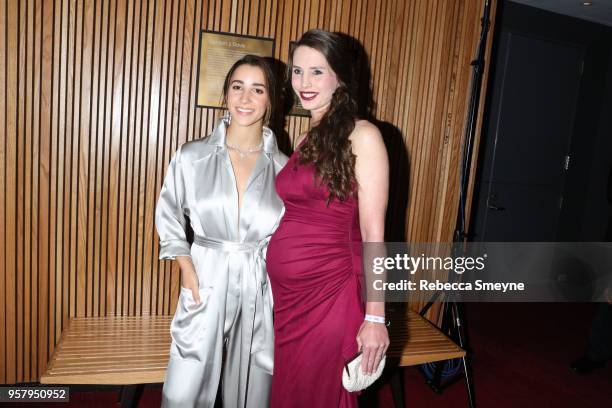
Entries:
{"type": "MultiPolygon", "coordinates": [[[[588,338],[592,304],[465,305],[476,401],[479,407],[612,407],[612,363],[587,376],[569,364],[588,338]]],[[[406,406],[466,407],[463,381],[435,394],[416,368],[404,372],[406,406]]],[[[71,390],[70,403],[59,407],[116,406],[117,392],[71,390]]],[[[145,390],[141,407],[158,407],[159,386],[145,390]]],[[[377,395],[378,407],[393,407],[389,386],[377,395]]],[[[39,404],[15,404],[16,407],[39,404]]],[[[289,407],[289,405],[288,405],[289,407]]],[[[317,408],[317,407],[313,407],[317,408]]]]}

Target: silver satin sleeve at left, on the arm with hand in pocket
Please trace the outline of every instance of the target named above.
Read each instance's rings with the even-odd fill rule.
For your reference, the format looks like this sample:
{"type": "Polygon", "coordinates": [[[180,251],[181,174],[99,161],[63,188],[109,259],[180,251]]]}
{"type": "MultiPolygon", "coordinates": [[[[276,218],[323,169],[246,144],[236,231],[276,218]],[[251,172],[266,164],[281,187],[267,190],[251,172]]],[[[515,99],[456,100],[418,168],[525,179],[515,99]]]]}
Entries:
{"type": "Polygon", "coordinates": [[[160,240],[159,259],[191,256],[185,215],[189,213],[185,206],[185,180],[179,148],[168,165],[155,207],[155,226],[160,240]]]}

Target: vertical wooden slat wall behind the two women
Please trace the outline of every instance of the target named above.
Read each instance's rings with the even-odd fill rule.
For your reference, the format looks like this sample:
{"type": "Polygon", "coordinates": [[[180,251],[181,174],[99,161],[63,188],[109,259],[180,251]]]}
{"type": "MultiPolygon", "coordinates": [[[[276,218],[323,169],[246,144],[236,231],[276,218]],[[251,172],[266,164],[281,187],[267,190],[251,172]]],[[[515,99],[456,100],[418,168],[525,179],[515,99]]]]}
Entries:
{"type": "Polygon", "coordinates": [[[449,240],[483,3],[1,1],[0,383],[36,381],[71,316],[173,312],[153,213],[173,152],[220,114],[194,108],[200,29],[274,37],[283,61],[312,27],[357,38],[410,158],[407,238],[449,240]]]}

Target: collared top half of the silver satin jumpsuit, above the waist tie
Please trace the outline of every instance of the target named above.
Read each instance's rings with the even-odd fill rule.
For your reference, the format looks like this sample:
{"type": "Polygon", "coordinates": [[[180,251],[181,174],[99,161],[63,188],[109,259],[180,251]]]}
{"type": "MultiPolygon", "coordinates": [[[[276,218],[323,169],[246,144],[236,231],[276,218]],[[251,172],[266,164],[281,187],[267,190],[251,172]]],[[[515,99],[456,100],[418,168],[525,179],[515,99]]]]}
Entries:
{"type": "Polygon", "coordinates": [[[239,219],[226,126],[222,118],[210,136],[185,143],[168,166],[155,214],[160,259],[191,255],[185,215],[195,235],[234,242],[260,241],[278,226],[284,207],[274,181],[287,157],[278,150],[274,133],[264,127],[263,153],[247,182],[239,219]]]}

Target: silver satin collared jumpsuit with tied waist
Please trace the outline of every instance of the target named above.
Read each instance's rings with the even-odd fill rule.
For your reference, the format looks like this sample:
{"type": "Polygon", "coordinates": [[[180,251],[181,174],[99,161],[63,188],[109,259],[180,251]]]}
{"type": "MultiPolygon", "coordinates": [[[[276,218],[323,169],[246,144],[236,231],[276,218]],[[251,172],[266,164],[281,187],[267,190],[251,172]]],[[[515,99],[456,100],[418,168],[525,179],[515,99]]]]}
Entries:
{"type": "Polygon", "coordinates": [[[264,128],[263,152],[239,215],[226,126],[224,118],[210,136],[177,150],[157,202],[160,259],[191,256],[201,299],[196,306],[181,287],[170,328],[165,407],[212,407],[218,386],[224,407],[268,406],[274,332],[265,251],[284,211],[274,181],[287,157],[264,128]],[[195,234],[192,246],[185,215],[195,234]]]}

